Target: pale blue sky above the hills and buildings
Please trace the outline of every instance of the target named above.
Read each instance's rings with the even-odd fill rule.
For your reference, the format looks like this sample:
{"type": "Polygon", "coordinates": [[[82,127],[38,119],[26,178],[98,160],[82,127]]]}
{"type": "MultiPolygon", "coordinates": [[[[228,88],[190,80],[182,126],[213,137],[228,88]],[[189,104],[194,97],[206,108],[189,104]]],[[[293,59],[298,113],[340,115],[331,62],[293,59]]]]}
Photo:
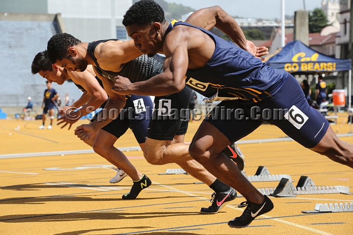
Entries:
{"type": "MultiPolygon", "coordinates": [[[[231,16],[244,18],[280,19],[281,0],[165,0],[181,3],[194,9],[219,5],[231,16]]],[[[310,11],[321,8],[322,0],[304,0],[305,9],[310,11]]],[[[285,14],[294,15],[294,12],[304,9],[303,0],[285,0],[285,14]]]]}

